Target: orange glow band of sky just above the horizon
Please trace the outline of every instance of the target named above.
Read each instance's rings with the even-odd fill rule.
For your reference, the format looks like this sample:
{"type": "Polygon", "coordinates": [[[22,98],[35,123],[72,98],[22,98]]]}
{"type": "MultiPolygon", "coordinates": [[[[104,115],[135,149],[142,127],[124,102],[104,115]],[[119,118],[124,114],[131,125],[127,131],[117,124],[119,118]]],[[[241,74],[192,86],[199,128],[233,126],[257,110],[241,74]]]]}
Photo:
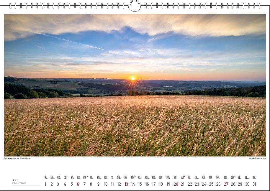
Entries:
{"type": "Polygon", "coordinates": [[[185,71],[182,73],[181,71],[171,72],[171,73],[149,73],[142,72],[140,74],[129,74],[129,73],[70,73],[70,72],[54,72],[43,70],[39,73],[31,72],[24,73],[23,75],[19,72],[14,72],[6,69],[4,76],[11,76],[14,78],[107,78],[107,79],[120,79],[127,81],[136,81],[140,82],[140,80],[266,80],[265,79],[265,70],[253,70],[248,71],[247,69],[242,70],[243,73],[239,74],[239,71],[230,71],[230,70],[222,70],[222,72],[215,71],[204,71],[198,73],[198,71],[185,71]],[[230,73],[229,73],[230,72],[230,73]],[[134,80],[132,79],[134,78],[134,80]],[[140,80],[138,80],[140,79],[140,80]]]}

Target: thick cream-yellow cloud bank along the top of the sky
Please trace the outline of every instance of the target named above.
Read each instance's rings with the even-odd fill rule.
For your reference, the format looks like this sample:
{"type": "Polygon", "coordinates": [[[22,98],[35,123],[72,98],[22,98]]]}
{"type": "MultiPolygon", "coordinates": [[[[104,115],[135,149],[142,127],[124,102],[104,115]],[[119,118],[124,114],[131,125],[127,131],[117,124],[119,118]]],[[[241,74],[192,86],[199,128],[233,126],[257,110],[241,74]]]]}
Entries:
{"type": "MultiPolygon", "coordinates": [[[[121,31],[130,27],[155,36],[168,32],[190,36],[265,34],[265,14],[5,14],[5,40],[32,35],[121,31]],[[33,24],[35,23],[35,24],[33,24]]],[[[154,40],[153,37],[151,40],[154,40]]],[[[66,40],[66,39],[63,39],[66,40]]]]}

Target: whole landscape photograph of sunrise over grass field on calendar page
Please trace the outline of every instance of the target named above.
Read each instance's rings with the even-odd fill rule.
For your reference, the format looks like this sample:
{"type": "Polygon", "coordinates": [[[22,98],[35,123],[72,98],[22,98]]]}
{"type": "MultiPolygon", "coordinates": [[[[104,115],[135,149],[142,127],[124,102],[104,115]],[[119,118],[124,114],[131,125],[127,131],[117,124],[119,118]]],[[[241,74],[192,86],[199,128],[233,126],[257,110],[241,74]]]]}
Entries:
{"type": "Polygon", "coordinates": [[[5,156],[266,156],[265,14],[5,14],[1,83],[5,156]]]}

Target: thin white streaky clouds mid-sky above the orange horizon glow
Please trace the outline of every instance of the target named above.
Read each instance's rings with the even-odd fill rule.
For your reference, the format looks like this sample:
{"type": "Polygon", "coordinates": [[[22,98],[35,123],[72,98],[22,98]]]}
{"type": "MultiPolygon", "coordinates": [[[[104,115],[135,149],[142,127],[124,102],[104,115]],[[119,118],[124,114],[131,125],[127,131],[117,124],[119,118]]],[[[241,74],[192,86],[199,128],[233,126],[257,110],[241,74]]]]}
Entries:
{"type": "MultiPolygon", "coordinates": [[[[24,63],[18,65],[35,65],[45,68],[54,67],[54,70],[69,71],[76,69],[79,71],[89,71],[90,73],[111,72],[166,72],[170,71],[214,71],[220,68],[249,66],[261,67],[264,69],[264,61],[246,60],[257,52],[249,53],[230,53],[217,51],[188,52],[179,49],[145,49],[142,50],[109,50],[101,55],[73,57],[68,55],[44,55],[29,57],[24,59],[24,63]],[[163,54],[161,53],[163,51],[163,54]],[[156,56],[159,55],[159,56],[156,56]],[[232,59],[231,57],[235,57],[232,59]],[[243,60],[239,62],[239,60],[243,60]]],[[[74,71],[75,72],[75,71],[74,71]]]]}

